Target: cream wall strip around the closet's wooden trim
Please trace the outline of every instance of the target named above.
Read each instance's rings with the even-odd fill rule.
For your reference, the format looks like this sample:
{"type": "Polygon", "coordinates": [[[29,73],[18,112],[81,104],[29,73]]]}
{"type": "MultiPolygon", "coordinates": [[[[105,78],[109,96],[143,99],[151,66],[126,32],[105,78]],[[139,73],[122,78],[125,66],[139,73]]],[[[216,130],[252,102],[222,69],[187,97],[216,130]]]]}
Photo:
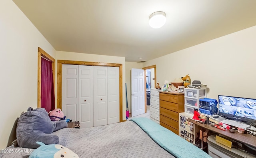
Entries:
{"type": "MultiPolygon", "coordinates": [[[[122,77],[123,77],[123,120],[126,120],[126,98],[125,98],[125,58],[118,56],[103,56],[95,54],[84,54],[75,52],[62,52],[56,51],[56,63],[57,60],[74,60],[74,61],[86,61],[86,62],[104,62],[104,63],[115,63],[122,64],[122,77]]],[[[56,65],[57,72],[57,65],[56,65]]]]}

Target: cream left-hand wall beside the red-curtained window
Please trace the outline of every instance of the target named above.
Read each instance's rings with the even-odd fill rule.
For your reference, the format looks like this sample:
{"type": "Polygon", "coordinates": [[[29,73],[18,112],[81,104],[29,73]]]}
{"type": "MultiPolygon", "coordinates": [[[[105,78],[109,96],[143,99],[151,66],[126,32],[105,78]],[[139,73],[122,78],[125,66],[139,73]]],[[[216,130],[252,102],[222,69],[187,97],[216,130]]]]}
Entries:
{"type": "Polygon", "coordinates": [[[12,0],[0,0],[0,149],[22,111],[37,108],[38,47],[55,50],[12,0]]]}

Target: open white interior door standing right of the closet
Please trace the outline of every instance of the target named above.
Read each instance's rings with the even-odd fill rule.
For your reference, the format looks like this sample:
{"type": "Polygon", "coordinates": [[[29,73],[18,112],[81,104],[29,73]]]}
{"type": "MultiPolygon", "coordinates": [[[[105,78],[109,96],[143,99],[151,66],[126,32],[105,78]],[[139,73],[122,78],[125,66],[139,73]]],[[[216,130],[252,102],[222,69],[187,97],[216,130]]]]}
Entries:
{"type": "Polygon", "coordinates": [[[144,70],[132,68],[132,117],[145,113],[144,70]]]}

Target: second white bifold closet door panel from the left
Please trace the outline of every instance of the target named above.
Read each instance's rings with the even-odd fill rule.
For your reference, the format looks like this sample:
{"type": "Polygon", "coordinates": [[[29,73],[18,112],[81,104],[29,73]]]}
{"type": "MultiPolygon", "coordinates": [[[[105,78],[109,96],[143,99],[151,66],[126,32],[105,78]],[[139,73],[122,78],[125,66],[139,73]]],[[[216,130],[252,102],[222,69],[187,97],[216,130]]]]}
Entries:
{"type": "Polygon", "coordinates": [[[93,127],[93,66],[78,66],[78,120],[80,128],[93,127]]]}

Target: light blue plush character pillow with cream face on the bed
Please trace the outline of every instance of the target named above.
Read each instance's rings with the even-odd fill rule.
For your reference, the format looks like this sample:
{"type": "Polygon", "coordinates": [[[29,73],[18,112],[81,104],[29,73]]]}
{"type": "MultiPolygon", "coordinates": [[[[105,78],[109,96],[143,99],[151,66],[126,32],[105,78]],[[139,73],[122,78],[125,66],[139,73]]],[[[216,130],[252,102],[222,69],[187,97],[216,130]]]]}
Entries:
{"type": "Polygon", "coordinates": [[[41,146],[34,150],[29,158],[79,158],[72,150],[60,144],[45,145],[42,142],[36,143],[41,146]]]}

